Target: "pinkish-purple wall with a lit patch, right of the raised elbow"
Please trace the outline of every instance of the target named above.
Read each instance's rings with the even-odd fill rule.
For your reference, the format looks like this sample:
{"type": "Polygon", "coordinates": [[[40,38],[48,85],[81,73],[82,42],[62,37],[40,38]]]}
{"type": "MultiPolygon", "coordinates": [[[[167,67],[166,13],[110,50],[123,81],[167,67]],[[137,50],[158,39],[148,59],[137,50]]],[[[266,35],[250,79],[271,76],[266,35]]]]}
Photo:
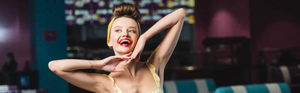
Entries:
{"type": "MultiPolygon", "coordinates": [[[[249,0],[195,0],[197,53],[206,37],[250,37],[249,0]]],[[[197,57],[199,65],[202,55],[197,57]]]]}

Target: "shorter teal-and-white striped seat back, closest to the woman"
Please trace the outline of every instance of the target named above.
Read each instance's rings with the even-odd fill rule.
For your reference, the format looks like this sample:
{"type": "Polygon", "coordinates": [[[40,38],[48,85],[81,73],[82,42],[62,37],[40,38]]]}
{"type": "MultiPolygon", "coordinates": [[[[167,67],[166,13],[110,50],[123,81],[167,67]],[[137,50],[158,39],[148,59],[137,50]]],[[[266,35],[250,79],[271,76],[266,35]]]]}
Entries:
{"type": "Polygon", "coordinates": [[[163,82],[165,93],[211,93],[215,89],[212,79],[171,80],[163,82]]]}

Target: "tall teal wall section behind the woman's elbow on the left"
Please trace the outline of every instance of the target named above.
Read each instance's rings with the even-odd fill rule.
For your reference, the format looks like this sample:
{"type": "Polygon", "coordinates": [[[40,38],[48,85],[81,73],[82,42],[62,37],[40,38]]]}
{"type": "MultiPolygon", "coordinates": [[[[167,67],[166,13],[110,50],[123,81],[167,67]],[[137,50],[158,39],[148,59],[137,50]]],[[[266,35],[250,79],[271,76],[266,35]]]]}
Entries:
{"type": "Polygon", "coordinates": [[[66,58],[64,0],[29,0],[32,59],[38,70],[38,86],[48,92],[68,92],[68,83],[48,68],[51,60],[66,58]],[[56,32],[56,38],[44,32],[56,32]],[[45,38],[54,39],[45,39],[45,38]],[[50,79],[50,80],[49,80],[50,79]]]}

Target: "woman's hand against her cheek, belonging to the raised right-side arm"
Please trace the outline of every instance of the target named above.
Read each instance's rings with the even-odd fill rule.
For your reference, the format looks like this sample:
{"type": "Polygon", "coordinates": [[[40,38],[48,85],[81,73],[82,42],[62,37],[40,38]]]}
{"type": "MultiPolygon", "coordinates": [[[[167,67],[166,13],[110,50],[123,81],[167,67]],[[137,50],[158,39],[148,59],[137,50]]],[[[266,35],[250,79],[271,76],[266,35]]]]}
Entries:
{"type": "Polygon", "coordinates": [[[127,65],[128,63],[131,62],[131,60],[134,59],[135,62],[138,62],[139,60],[139,57],[140,57],[140,54],[144,48],[144,45],[146,43],[146,39],[141,35],[138,40],[137,40],[137,43],[134,47],[134,50],[130,56],[131,59],[129,59],[124,65],[127,65]]]}

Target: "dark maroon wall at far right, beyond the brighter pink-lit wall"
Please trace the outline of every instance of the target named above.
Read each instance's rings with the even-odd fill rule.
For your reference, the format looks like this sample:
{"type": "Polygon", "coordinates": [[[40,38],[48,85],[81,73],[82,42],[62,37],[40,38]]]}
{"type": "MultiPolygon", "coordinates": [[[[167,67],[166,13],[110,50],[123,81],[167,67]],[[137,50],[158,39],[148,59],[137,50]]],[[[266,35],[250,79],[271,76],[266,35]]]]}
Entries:
{"type": "MultiPolygon", "coordinates": [[[[257,64],[258,51],[262,48],[288,48],[300,46],[299,5],[293,0],[251,0],[250,32],[252,63],[257,64]]],[[[266,57],[279,56],[277,53],[266,57]]],[[[253,70],[254,82],[258,80],[253,70]]]]}

